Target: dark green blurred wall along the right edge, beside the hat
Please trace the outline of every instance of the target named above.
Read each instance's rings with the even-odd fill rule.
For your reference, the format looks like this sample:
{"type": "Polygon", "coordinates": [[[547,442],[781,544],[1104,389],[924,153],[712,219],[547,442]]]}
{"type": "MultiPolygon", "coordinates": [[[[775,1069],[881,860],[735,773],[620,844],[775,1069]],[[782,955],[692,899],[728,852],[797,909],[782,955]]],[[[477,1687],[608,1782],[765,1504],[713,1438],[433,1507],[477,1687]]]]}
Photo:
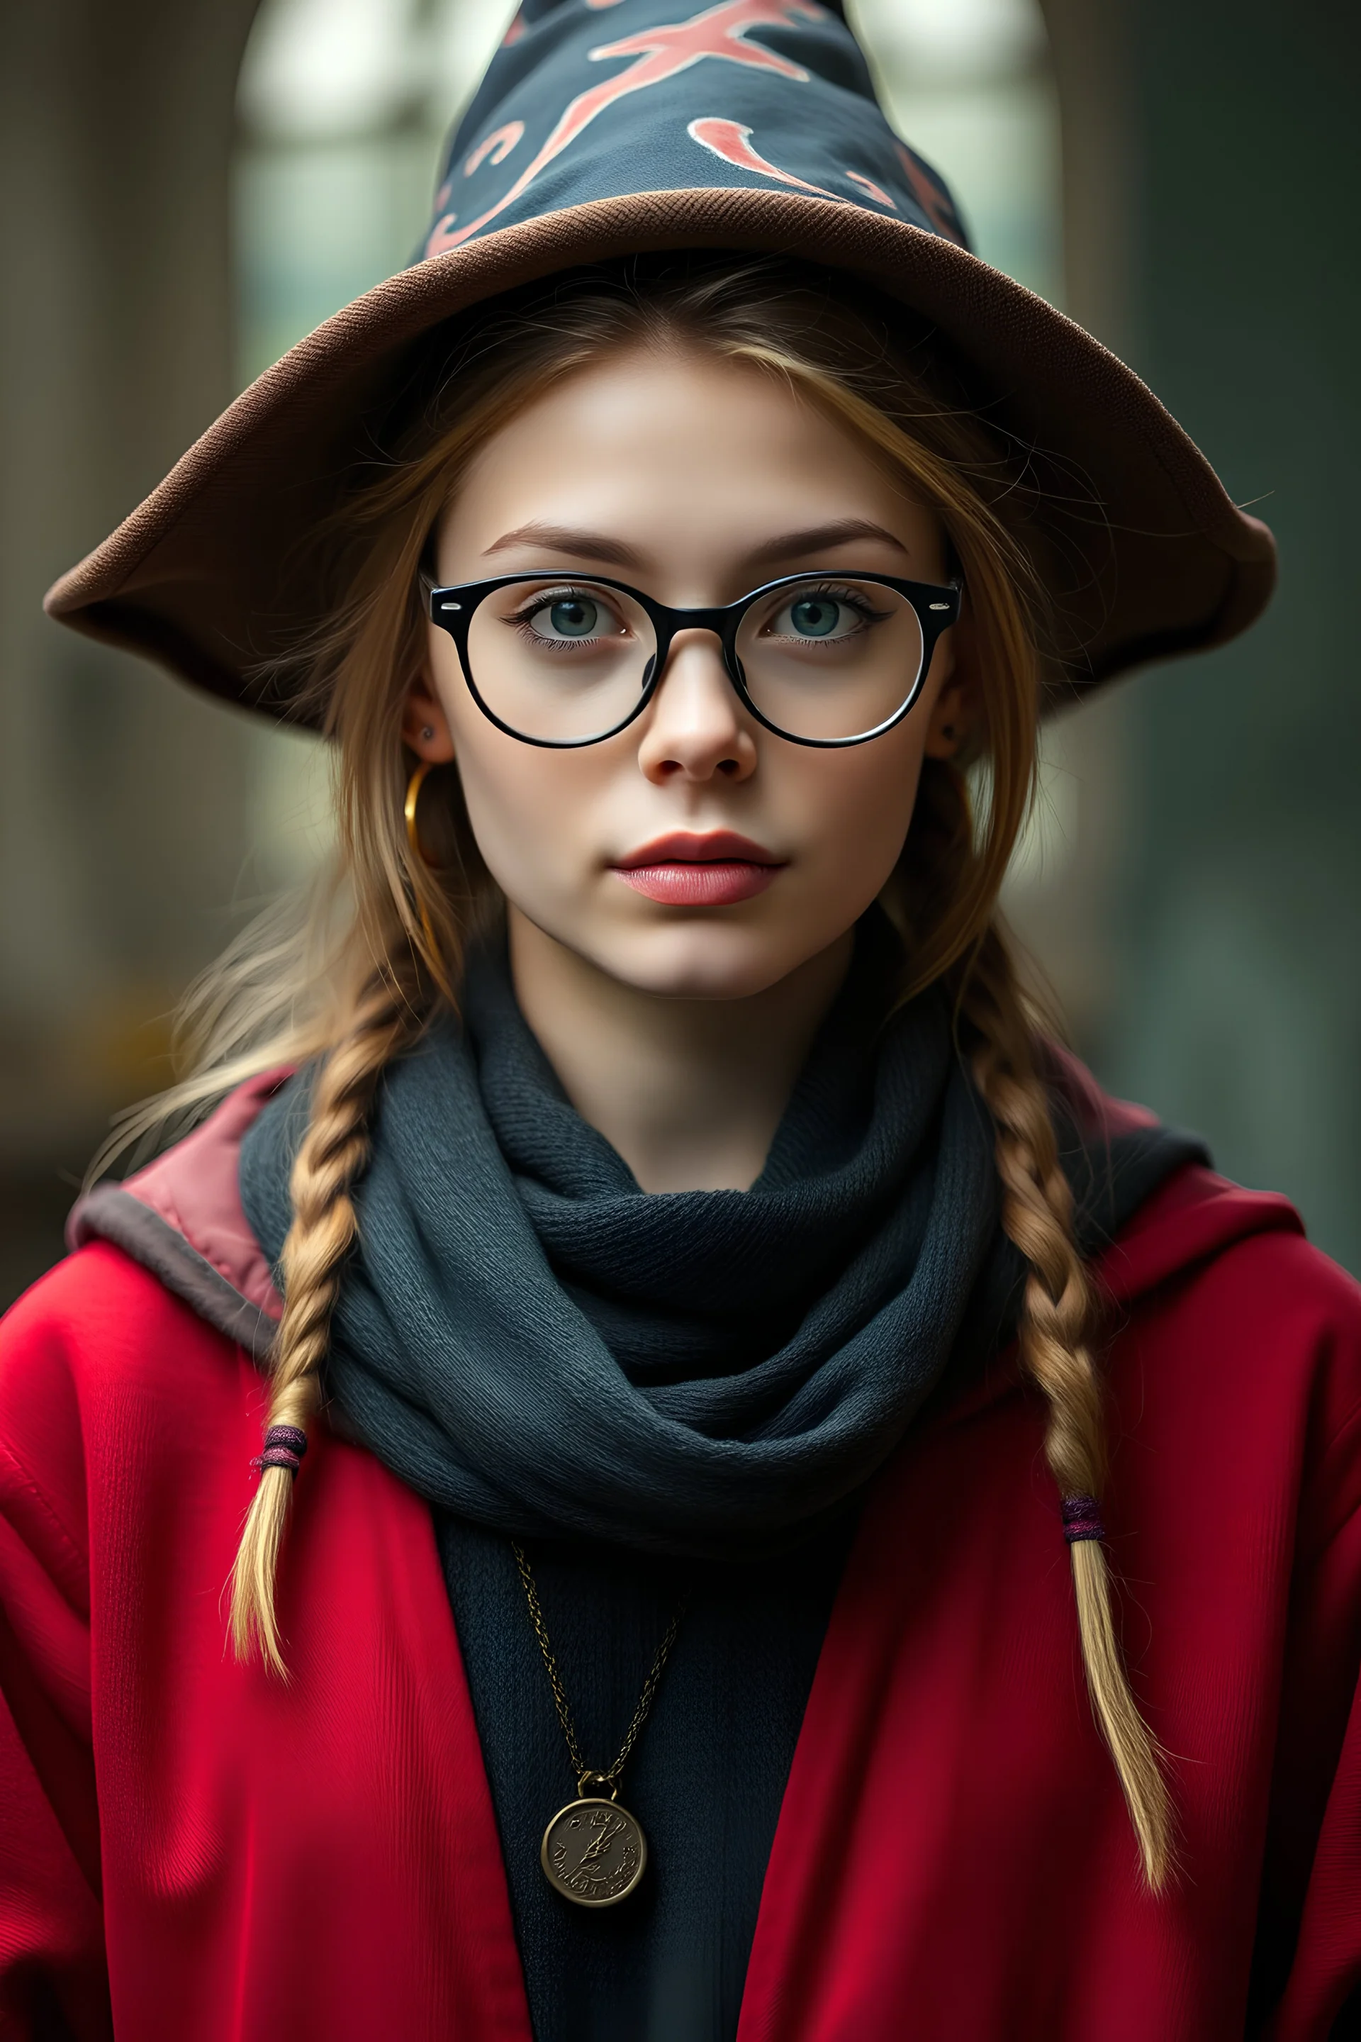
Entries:
{"type": "Polygon", "coordinates": [[[1281,584],[1135,682],[1098,1064],[1361,1270],[1361,8],[1126,0],[1124,37],[1132,357],[1281,584]]]}

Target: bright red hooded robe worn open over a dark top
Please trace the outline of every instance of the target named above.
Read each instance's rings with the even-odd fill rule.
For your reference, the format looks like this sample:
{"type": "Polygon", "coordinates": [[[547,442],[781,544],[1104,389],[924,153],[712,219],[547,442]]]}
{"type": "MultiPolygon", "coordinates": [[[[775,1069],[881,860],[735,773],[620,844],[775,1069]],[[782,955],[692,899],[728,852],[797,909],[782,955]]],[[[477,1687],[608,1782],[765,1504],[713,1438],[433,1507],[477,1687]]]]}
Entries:
{"type": "MultiPolygon", "coordinates": [[[[90,1239],[0,1329],[0,2036],[528,2042],[429,1507],[318,1423],[280,1572],[288,1685],[224,1642],[265,1382],[222,1299],[243,1340],[278,1311],[235,1199],[263,1090],[112,1195],[145,1215],[139,1260],[90,1239]]],[[[1283,1199],[1202,1168],[1100,1274],[1108,1552],[1177,1879],[1141,1883],[1045,1407],[1004,1354],[873,1482],[739,2042],[1343,2032],[1361,1293],[1283,1199]]]]}

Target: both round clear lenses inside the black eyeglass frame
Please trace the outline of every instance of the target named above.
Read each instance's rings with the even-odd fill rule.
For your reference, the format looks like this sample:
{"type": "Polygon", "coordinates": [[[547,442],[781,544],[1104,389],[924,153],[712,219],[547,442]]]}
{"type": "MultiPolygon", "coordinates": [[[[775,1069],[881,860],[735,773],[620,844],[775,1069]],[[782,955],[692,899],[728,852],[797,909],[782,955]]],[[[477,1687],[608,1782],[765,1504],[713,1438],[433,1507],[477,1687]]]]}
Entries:
{"type": "MultiPolygon", "coordinates": [[[[467,633],[469,676],[486,707],[522,737],[549,743],[604,737],[624,723],[655,658],[647,611],[618,588],[575,578],[494,588],[467,633]]],[[[737,658],[747,694],[775,729],[861,737],[912,694],[922,627],[894,588],[808,576],[751,604],[737,658]]]]}

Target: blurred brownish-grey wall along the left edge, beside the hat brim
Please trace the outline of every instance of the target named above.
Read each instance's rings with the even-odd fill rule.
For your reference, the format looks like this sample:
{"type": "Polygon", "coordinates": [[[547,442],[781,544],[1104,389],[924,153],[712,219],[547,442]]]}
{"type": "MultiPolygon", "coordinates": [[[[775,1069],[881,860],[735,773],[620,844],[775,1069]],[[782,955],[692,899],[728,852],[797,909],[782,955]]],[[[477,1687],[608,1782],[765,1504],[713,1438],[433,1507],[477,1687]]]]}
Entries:
{"type": "Polygon", "coordinates": [[[255,0],[0,6],[0,1299],[226,935],[245,737],[49,625],[47,584],[233,394],[229,163],[255,0]]]}

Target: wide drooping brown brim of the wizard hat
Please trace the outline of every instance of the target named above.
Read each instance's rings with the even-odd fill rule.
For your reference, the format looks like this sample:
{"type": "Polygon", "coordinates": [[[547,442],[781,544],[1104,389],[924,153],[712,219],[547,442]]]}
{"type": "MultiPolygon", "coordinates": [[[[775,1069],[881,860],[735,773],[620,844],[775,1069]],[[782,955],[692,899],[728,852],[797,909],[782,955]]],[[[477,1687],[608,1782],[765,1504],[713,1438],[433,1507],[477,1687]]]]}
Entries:
{"type": "MultiPolygon", "coordinates": [[[[47,592],[49,617],[200,688],[288,715],[259,670],[320,621],[284,562],[371,457],[371,421],[424,331],[559,270],[653,249],[782,253],[843,268],[949,337],[979,402],[1026,449],[1067,688],[1220,645],[1275,582],[1239,510],[1153,392],[1043,298],[939,235],[835,200],[679,190],[543,214],[435,255],[292,347],[147,500],[47,592]]],[[[1059,692],[1067,692],[1061,688],[1059,692]]]]}

